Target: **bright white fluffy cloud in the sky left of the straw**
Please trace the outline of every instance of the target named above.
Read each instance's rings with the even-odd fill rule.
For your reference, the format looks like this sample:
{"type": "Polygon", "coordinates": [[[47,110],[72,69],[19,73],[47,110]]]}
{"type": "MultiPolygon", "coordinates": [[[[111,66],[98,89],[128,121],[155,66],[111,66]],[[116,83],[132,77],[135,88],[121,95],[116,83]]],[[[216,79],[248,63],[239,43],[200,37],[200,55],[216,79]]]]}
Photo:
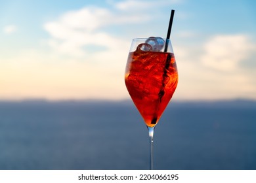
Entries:
{"type": "Polygon", "coordinates": [[[149,17],[137,14],[128,16],[106,8],[84,7],[66,12],[57,20],[46,22],[43,27],[51,35],[51,39],[48,40],[49,46],[59,54],[86,56],[89,54],[85,50],[88,45],[104,47],[108,52],[114,51],[117,54],[127,42],[103,31],[102,27],[141,22],[148,20],[149,17]]]}

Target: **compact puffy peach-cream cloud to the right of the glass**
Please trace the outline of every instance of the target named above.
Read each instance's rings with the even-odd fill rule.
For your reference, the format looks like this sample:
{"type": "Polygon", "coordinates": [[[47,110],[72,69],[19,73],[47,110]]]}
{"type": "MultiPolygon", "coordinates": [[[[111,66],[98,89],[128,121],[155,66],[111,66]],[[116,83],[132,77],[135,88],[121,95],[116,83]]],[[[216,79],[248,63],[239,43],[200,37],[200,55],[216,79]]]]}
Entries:
{"type": "Polygon", "coordinates": [[[204,44],[203,49],[203,65],[219,71],[235,71],[255,46],[247,35],[216,35],[204,44]]]}

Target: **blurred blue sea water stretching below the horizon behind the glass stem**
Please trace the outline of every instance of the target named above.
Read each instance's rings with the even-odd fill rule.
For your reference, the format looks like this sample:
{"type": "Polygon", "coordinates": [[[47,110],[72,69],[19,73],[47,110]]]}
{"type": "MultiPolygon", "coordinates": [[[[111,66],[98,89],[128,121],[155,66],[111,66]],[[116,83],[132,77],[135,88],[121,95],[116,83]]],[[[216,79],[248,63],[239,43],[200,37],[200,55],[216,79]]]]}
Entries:
{"type": "MultiPolygon", "coordinates": [[[[131,101],[0,101],[0,169],[148,167],[148,131],[131,101]]],[[[256,102],[170,103],[154,169],[256,169],[256,102]]]]}

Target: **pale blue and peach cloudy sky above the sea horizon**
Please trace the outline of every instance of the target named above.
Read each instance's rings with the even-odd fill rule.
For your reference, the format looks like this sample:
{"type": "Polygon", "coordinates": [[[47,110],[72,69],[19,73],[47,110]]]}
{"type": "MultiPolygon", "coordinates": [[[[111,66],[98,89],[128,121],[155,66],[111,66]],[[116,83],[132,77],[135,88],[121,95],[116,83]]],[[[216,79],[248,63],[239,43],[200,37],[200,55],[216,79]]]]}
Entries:
{"type": "Polygon", "coordinates": [[[129,99],[137,37],[166,37],[175,100],[256,99],[256,1],[0,0],[0,100],[129,99]]]}

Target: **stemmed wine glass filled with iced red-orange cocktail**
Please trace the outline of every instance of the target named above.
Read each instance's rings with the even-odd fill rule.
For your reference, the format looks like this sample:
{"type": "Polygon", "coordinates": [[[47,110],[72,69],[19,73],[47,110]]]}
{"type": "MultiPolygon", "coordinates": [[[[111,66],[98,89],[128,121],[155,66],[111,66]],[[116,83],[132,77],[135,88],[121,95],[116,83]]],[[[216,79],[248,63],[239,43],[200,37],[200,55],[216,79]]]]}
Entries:
{"type": "Polygon", "coordinates": [[[171,100],[178,72],[169,39],[133,39],[125,69],[125,85],[139,110],[150,137],[150,169],[153,169],[154,128],[171,100]]]}

